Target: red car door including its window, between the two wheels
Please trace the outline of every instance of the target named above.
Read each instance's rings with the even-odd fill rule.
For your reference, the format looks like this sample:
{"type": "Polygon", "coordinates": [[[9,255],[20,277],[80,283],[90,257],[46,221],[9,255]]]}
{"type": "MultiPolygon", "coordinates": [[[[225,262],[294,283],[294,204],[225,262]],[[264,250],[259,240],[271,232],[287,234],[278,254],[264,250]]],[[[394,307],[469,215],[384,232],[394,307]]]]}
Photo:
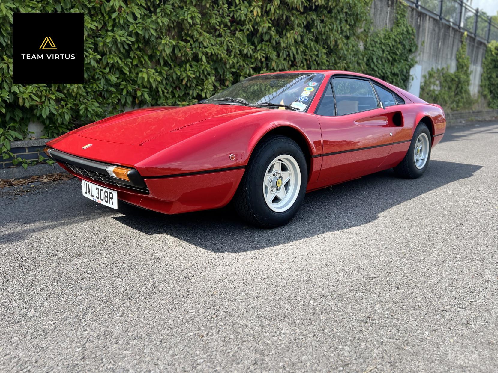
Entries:
{"type": "Polygon", "coordinates": [[[315,114],[324,153],[318,181],[335,184],[373,173],[389,154],[392,128],[369,79],[333,77],[315,114]]]}

